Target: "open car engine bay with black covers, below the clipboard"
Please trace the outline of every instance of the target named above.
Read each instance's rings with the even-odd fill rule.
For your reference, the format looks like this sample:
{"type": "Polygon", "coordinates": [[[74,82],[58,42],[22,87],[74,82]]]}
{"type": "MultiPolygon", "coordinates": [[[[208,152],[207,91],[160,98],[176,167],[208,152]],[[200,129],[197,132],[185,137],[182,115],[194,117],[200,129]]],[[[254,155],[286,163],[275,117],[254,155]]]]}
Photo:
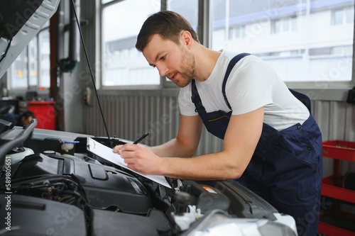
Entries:
{"type": "Polygon", "coordinates": [[[1,134],[0,235],[199,235],[214,218],[296,235],[293,218],[244,186],[167,177],[171,188],[161,186],[88,152],[87,136],[67,135],[37,130],[35,120],[1,134]]]}

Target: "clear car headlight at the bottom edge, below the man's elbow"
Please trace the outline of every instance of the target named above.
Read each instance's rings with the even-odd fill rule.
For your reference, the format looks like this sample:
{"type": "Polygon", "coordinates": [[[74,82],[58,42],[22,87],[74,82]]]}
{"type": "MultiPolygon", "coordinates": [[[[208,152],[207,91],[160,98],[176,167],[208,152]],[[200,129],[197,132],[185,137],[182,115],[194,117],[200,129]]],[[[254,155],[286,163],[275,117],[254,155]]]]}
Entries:
{"type": "Polygon", "coordinates": [[[186,236],[297,236],[295,220],[290,215],[276,213],[278,220],[231,218],[222,210],[212,210],[191,225],[186,236]],[[280,219],[282,218],[282,219],[280,219]],[[280,219],[280,220],[279,220],[280,219]],[[287,224],[285,224],[287,223],[287,224]]]}

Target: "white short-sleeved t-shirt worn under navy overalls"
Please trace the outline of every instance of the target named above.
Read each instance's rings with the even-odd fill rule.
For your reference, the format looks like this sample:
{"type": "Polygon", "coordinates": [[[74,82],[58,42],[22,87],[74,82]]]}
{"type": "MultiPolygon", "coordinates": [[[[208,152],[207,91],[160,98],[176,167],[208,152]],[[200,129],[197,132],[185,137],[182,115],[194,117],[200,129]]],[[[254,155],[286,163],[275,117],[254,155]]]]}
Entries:
{"type": "MultiPolygon", "coordinates": [[[[212,73],[204,82],[196,80],[197,91],[207,112],[230,111],[222,94],[226,67],[236,53],[222,51],[212,73]]],[[[197,116],[191,101],[191,83],[180,89],[180,113],[197,116]]],[[[242,58],[229,74],[226,82],[226,98],[232,115],[255,111],[264,106],[263,122],[276,130],[302,124],[310,116],[307,107],[290,93],[275,71],[260,58],[249,55],[242,58]]]]}

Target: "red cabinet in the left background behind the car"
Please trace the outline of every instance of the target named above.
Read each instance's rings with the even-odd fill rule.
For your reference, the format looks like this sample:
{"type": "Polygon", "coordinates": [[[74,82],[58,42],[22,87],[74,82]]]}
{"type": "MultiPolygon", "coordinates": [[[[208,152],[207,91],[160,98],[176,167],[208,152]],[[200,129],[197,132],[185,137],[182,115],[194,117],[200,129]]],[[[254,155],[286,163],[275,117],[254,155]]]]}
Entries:
{"type": "Polygon", "coordinates": [[[32,111],[38,120],[36,128],[55,130],[57,112],[54,105],[55,101],[28,101],[27,110],[32,111]]]}

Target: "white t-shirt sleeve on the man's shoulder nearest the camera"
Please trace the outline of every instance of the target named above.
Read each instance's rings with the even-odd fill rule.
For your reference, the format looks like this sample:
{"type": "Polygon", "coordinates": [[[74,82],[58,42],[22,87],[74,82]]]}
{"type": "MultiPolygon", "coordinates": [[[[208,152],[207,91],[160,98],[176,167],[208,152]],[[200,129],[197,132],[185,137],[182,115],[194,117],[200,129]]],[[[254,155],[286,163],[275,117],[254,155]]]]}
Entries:
{"type": "Polygon", "coordinates": [[[273,84],[278,75],[258,57],[249,57],[234,66],[226,83],[232,115],[255,111],[273,103],[273,84]]]}

